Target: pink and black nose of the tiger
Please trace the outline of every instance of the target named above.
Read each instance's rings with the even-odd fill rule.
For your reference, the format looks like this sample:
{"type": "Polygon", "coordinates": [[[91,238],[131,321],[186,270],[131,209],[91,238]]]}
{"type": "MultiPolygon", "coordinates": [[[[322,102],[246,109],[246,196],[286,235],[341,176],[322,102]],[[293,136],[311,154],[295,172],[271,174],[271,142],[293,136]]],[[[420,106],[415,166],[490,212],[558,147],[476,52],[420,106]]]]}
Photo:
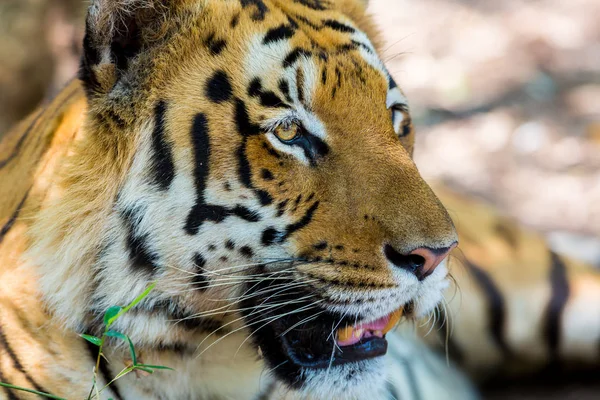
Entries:
{"type": "Polygon", "coordinates": [[[449,247],[440,248],[419,247],[408,254],[401,254],[386,244],[383,253],[396,267],[412,272],[418,280],[422,281],[435,271],[457,244],[454,242],[449,247]]]}

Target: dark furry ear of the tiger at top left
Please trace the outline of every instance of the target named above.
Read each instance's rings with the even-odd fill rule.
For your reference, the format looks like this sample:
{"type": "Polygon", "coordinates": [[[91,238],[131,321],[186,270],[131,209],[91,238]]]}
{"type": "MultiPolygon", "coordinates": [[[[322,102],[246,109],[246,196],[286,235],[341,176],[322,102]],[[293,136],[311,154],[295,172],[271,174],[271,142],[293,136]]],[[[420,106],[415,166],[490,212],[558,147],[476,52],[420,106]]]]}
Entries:
{"type": "Polygon", "coordinates": [[[91,0],[80,79],[88,94],[107,93],[164,31],[176,0],[91,0]]]}

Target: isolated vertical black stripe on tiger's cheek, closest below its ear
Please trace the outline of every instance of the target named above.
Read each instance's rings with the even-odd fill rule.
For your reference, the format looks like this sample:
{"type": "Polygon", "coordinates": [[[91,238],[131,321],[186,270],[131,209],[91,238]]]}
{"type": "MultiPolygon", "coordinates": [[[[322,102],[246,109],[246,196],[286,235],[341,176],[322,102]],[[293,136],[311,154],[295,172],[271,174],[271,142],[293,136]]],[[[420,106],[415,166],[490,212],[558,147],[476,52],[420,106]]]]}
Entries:
{"type": "Polygon", "coordinates": [[[167,104],[158,102],[154,108],[154,130],[152,131],[151,170],[154,182],[160,190],[168,190],[175,178],[175,164],[171,144],[165,137],[165,114],[167,104]]]}

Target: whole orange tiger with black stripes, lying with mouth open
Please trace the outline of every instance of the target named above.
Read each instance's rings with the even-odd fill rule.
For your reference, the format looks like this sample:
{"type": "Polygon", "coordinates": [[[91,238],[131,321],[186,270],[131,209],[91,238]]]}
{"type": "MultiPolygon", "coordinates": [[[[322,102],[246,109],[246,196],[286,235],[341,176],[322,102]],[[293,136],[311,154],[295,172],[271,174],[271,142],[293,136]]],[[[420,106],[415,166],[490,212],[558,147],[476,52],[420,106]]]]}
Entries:
{"type": "Polygon", "coordinates": [[[91,1],[78,77],[0,144],[1,399],[476,399],[598,367],[599,272],[423,180],[366,7],[91,1]],[[127,345],[82,335],[149,287],[111,329],[173,370],[121,376],[127,345]]]}

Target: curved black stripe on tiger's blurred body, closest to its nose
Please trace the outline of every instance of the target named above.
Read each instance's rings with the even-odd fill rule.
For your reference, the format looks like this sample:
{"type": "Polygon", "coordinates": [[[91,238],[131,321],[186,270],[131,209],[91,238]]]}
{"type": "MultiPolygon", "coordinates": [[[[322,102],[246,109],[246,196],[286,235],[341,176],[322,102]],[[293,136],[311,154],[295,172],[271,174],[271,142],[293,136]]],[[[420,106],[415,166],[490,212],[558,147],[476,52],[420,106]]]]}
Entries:
{"type": "Polygon", "coordinates": [[[465,260],[465,265],[473,274],[473,277],[481,286],[483,293],[488,301],[489,311],[489,329],[496,345],[506,354],[511,354],[511,350],[504,339],[504,326],[506,324],[506,304],[502,293],[494,284],[492,278],[483,269],[465,260]]]}

